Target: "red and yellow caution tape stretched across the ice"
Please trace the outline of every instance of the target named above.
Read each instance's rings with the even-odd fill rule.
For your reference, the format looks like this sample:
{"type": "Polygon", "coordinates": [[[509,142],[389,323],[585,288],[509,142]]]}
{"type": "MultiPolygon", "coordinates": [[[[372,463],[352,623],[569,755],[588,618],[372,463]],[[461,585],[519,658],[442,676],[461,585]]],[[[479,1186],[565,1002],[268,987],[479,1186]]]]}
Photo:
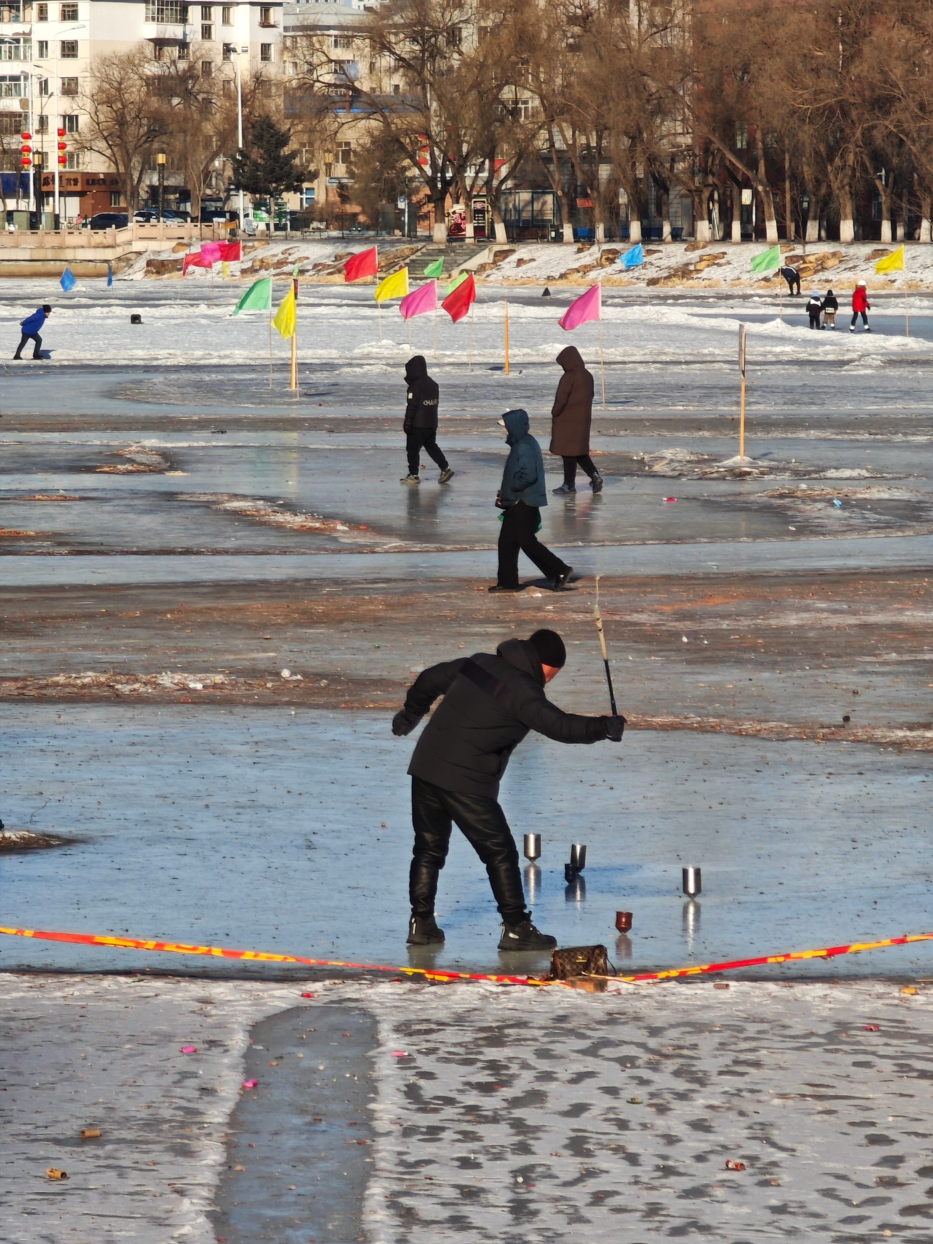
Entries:
{"type": "MultiPolygon", "coordinates": [[[[348,963],[342,959],[304,959],[297,954],[274,954],[267,950],[231,950],[219,945],[187,945],[182,942],[154,942],[136,937],[108,937],[103,933],[60,933],[44,929],[14,929],[0,927],[0,933],[10,937],[35,937],[44,942],[68,942],[76,945],[111,945],[124,950],[167,950],[170,954],[208,954],[219,959],[241,959],[250,963],[304,963],[311,968],[358,968],[362,972],[401,972],[428,980],[491,980],[508,985],[547,985],[561,982],[536,980],[534,977],[493,975],[478,972],[447,972],[442,968],[391,967],[384,963],[348,963]]],[[[832,959],[838,954],[858,954],[861,950],[880,950],[887,945],[908,945],[912,942],[933,940],[933,933],[906,933],[903,937],[884,938],[883,942],[851,942],[848,945],[825,947],[820,950],[789,950],[785,954],[768,954],[756,959],[728,959],[723,963],[694,964],[688,968],[667,968],[663,972],[641,972],[627,977],[607,979],[626,983],[639,980],[672,980],[675,977],[702,977],[710,972],[731,972],[736,968],[756,968],[765,963],[792,963],[802,959],[832,959]]]]}

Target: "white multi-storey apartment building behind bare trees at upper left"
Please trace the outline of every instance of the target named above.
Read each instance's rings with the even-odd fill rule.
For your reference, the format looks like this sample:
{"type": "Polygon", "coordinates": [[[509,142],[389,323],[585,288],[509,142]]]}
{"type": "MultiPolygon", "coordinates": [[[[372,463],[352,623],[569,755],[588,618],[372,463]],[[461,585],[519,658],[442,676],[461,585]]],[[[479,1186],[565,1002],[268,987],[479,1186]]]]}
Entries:
{"type": "MultiPolygon", "coordinates": [[[[185,0],[0,0],[0,162],[4,193],[19,192],[52,211],[56,180],[62,219],[121,204],[118,188],[100,157],[73,149],[87,116],[93,58],[148,44],[156,58],[185,58],[197,50],[204,73],[234,73],[243,57],[246,75],[277,72],[281,61],[282,0],[225,5],[185,0]],[[63,131],[63,133],[60,133],[63,131]],[[21,133],[35,175],[21,177],[21,133]],[[75,136],[71,141],[68,136],[75,136]],[[60,143],[65,144],[61,152],[60,143]],[[30,180],[26,188],[25,183],[30,180]]],[[[16,197],[16,193],[14,193],[16,197]]]]}

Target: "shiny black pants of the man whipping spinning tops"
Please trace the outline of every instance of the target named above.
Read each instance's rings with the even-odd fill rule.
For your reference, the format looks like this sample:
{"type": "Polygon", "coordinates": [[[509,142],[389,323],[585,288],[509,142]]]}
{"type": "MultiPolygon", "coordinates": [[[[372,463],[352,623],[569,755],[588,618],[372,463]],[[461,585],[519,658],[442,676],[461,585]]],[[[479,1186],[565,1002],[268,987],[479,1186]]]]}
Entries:
{"type": "Polygon", "coordinates": [[[506,924],[525,919],[519,848],[505,812],[489,795],[458,795],[412,778],[414,851],[408,891],[413,916],[433,916],[438,875],[444,867],[455,824],[486,866],[496,907],[506,924]]]}

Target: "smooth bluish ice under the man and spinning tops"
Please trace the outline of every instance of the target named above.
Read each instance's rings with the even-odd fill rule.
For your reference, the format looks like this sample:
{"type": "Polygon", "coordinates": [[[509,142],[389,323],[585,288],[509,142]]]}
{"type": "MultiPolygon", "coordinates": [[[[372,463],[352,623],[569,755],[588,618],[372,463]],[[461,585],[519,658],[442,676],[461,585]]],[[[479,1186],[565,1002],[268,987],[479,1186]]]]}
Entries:
{"type": "MultiPolygon", "coordinates": [[[[19,758],[1,791],[11,824],[88,840],[0,861],[7,923],[408,962],[413,738],[394,739],[388,715],[14,705],[5,717],[19,758]]],[[[867,746],[629,731],[618,746],[569,748],[530,735],[503,806],[519,842],[542,837],[540,877],[526,875],[540,927],[562,945],[606,943],[622,968],[669,967],[933,928],[929,781],[926,756],[867,746]],[[571,842],[588,846],[581,892],[564,882],[571,842]],[[698,903],[680,892],[688,863],[703,868],[698,903]],[[616,945],[620,909],[634,927],[616,945]]],[[[438,918],[447,944],[427,962],[413,952],[420,965],[541,965],[496,954],[489,883],[458,831],[438,918]]],[[[40,940],[4,939],[0,952],[7,968],[225,968],[40,940]]],[[[831,972],[929,963],[919,943],[831,972]]]]}

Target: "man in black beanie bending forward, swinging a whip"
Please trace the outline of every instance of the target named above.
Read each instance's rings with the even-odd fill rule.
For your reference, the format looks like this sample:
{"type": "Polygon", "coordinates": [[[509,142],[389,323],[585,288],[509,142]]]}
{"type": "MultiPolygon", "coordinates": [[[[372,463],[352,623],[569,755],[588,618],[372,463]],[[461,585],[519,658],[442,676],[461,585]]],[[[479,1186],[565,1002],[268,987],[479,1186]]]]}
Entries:
{"type": "Polygon", "coordinates": [[[423,671],[408,690],[406,707],[392,719],[396,736],[411,734],[438,695],[444,697],[408,766],[414,825],[409,945],[444,940],[434,918],[434,899],[452,824],[486,866],[503,917],[499,949],[550,950],[557,944],[531,923],[519,852],[498,796],[509,758],[529,730],[557,743],[622,739],[624,718],[578,717],[550,703],[545,685],[566,658],[564,641],[554,631],[535,631],[530,639],[506,639],[495,656],[478,652],[423,671]]]}

